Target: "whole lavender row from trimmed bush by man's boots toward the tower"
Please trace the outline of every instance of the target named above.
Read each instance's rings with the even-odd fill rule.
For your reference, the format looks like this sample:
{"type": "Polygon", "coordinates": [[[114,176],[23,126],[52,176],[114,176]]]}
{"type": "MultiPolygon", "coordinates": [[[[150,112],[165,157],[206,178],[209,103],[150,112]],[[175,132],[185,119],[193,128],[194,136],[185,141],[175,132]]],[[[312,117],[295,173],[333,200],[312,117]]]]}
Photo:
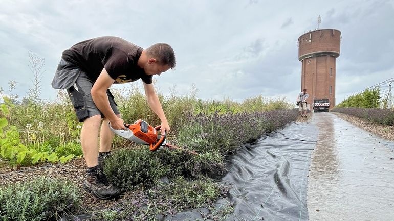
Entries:
{"type": "Polygon", "coordinates": [[[296,118],[295,110],[190,115],[187,124],[173,132],[169,140],[181,149],[121,149],[107,160],[104,171],[123,190],[150,186],[163,176],[221,176],[226,171],[225,157],[235,153],[241,144],[254,142],[296,118]]]}

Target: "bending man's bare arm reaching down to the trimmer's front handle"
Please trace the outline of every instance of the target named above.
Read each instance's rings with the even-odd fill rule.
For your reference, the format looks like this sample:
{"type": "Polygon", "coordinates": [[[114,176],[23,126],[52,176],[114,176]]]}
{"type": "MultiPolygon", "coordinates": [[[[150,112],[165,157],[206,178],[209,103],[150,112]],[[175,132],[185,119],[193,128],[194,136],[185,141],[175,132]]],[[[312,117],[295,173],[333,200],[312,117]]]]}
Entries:
{"type": "Polygon", "coordinates": [[[164,130],[168,132],[171,128],[168,125],[167,118],[164,114],[163,108],[159,101],[159,97],[155,92],[155,88],[153,87],[153,84],[146,84],[144,82],[144,90],[145,90],[146,100],[148,102],[150,109],[152,109],[152,111],[154,111],[161,120],[162,132],[164,130]]]}

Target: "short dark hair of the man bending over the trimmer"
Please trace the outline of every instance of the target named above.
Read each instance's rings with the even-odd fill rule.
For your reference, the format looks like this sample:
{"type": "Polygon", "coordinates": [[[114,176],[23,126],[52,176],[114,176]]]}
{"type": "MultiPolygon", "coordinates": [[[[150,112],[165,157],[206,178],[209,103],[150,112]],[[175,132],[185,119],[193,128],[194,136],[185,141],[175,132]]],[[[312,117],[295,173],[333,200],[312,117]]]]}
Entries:
{"type": "Polygon", "coordinates": [[[175,67],[175,53],[172,47],[166,43],[157,43],[146,49],[148,56],[152,56],[162,65],[169,65],[171,69],[175,67]]]}

